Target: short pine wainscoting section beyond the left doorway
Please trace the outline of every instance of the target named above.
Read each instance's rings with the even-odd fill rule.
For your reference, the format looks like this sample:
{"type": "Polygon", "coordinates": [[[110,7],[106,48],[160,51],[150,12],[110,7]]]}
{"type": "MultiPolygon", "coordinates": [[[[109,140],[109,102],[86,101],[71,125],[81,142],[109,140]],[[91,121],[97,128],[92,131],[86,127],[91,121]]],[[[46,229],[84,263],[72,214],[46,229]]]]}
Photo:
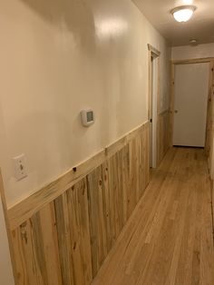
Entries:
{"type": "Polygon", "coordinates": [[[170,110],[158,115],[157,122],[157,161],[158,165],[170,148],[170,110]]]}

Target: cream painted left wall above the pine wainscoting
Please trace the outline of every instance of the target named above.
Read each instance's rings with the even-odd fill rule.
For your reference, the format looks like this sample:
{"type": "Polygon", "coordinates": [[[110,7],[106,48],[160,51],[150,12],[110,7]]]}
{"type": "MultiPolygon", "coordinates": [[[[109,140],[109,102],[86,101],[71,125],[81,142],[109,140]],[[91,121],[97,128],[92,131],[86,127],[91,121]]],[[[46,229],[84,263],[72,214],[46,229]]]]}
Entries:
{"type": "Polygon", "coordinates": [[[8,205],[148,119],[148,43],[161,52],[160,109],[169,106],[170,46],[130,0],[2,1],[0,26],[8,205]],[[21,153],[28,177],[16,182],[21,153]]]}

